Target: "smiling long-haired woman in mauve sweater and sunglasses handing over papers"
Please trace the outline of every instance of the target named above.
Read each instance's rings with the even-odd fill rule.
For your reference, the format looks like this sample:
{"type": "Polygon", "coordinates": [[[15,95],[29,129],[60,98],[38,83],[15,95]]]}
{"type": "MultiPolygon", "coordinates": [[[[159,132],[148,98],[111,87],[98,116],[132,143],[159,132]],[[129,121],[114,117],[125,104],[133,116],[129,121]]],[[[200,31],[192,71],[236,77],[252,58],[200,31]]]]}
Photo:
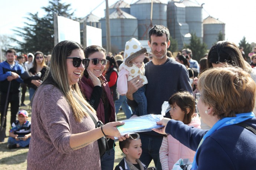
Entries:
{"type": "Polygon", "coordinates": [[[96,111],[78,86],[89,61],[74,41],[61,41],[53,48],[49,72],[32,99],[28,170],[100,170],[97,140],[104,135],[120,136],[116,126],[121,122],[95,129],[91,116],[98,121],[96,111]]]}

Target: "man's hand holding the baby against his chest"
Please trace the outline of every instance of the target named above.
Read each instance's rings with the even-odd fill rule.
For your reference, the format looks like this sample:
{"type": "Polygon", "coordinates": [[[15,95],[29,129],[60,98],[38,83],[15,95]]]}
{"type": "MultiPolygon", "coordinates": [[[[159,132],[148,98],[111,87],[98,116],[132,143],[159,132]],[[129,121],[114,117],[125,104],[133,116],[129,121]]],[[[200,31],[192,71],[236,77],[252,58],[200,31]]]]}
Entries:
{"type": "Polygon", "coordinates": [[[133,100],[132,94],[143,86],[142,83],[143,82],[141,81],[140,76],[137,76],[127,82],[128,90],[126,93],[126,97],[129,100],[133,100]]]}

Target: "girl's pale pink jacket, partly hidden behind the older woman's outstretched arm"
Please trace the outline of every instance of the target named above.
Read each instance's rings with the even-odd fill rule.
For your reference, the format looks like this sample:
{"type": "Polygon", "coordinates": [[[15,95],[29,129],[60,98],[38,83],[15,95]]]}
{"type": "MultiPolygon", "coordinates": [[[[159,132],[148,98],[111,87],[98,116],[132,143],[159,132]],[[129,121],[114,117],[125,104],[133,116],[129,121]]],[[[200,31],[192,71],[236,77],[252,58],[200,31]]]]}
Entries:
{"type": "MultiPolygon", "coordinates": [[[[197,113],[191,120],[188,126],[200,128],[201,121],[197,113]]],[[[181,144],[178,140],[174,139],[171,135],[163,138],[162,145],[159,151],[160,162],[163,170],[173,169],[173,165],[180,159],[188,158],[193,162],[195,151],[181,144]]]]}

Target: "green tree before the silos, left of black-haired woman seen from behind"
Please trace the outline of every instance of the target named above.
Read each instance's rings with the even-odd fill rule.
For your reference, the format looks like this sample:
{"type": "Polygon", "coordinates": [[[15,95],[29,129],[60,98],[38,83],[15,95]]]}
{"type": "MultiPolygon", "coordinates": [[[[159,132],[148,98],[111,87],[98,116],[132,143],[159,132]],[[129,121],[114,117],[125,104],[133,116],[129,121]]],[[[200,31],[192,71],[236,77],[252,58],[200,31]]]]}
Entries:
{"type": "Polygon", "coordinates": [[[190,44],[185,44],[184,48],[192,50],[193,59],[199,61],[207,52],[206,43],[202,43],[196,33],[191,33],[190,44]]]}

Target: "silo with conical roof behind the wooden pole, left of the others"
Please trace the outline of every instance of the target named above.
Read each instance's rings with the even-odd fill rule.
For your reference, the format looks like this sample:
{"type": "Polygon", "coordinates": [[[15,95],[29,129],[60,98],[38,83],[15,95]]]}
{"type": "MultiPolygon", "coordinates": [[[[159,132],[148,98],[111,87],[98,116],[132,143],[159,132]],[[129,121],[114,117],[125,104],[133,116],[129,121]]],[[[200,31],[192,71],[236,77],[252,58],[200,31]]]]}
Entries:
{"type": "MultiPolygon", "coordinates": [[[[126,41],[132,37],[138,39],[138,20],[134,16],[116,9],[109,15],[111,52],[118,53],[125,48],[126,41]]],[[[106,17],[99,20],[102,29],[102,46],[106,47],[106,17]]]]}

